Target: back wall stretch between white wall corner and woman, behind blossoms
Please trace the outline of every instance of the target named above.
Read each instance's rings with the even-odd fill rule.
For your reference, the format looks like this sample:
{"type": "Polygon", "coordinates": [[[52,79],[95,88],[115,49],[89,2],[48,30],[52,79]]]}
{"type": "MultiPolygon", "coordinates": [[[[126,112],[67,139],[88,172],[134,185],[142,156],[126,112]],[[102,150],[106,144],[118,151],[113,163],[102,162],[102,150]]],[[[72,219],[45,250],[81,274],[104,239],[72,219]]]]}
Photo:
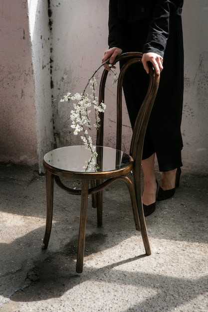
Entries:
{"type": "MultiPolygon", "coordinates": [[[[104,51],[108,48],[108,1],[96,0],[53,0],[53,98],[72,94],[83,89],[101,64],[104,51]]],[[[102,69],[103,70],[103,69],[102,69]]],[[[97,73],[99,79],[102,70],[97,73]]],[[[108,78],[105,103],[109,109],[105,115],[106,144],[115,146],[115,87],[113,77],[108,78]]],[[[90,90],[88,90],[90,94],[90,90]]],[[[70,128],[72,103],[54,101],[54,123],[57,146],[79,143],[70,128]]],[[[93,118],[93,116],[92,116],[93,118]]],[[[124,148],[128,150],[131,127],[124,104],[124,148]]],[[[95,142],[94,133],[92,133],[95,142]]]]}

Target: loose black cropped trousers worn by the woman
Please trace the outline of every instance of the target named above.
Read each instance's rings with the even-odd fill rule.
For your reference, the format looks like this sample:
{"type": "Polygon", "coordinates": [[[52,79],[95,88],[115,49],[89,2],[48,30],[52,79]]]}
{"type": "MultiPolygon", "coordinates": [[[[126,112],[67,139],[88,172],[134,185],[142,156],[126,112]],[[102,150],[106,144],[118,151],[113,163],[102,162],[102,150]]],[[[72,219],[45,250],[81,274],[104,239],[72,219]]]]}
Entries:
{"type": "MultiPolygon", "coordinates": [[[[142,30],[141,24],[138,25],[139,28],[135,24],[130,24],[129,27],[130,44],[125,52],[140,52],[142,51],[143,40],[147,35],[147,27],[144,25],[144,30],[142,30]],[[137,29],[140,29],[139,36],[137,36],[137,29]]],[[[184,91],[184,52],[180,15],[174,15],[170,19],[170,35],[163,66],[158,94],[146,131],[143,159],[156,153],[160,171],[169,171],[182,166],[181,120],[184,91]]],[[[148,84],[149,76],[142,64],[134,64],[129,67],[124,78],[123,90],[132,128],[146,95],[148,84]]]]}

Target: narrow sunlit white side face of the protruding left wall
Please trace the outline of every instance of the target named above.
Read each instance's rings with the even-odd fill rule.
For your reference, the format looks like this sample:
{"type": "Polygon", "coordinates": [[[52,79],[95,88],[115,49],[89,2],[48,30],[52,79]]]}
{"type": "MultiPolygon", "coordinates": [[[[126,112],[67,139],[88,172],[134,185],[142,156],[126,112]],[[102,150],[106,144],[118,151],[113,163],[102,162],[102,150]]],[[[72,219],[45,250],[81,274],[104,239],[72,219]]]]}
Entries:
{"type": "Polygon", "coordinates": [[[50,57],[52,51],[51,14],[50,0],[28,0],[39,171],[43,170],[44,154],[54,148],[51,99],[52,60],[50,57]]]}

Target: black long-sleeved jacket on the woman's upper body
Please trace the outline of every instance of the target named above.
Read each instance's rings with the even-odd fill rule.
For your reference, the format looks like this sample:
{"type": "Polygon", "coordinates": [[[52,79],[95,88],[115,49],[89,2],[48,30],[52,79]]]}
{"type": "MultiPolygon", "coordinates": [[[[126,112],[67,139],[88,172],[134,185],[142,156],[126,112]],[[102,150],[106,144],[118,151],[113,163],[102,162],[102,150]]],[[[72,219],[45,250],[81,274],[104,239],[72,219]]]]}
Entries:
{"type": "Polygon", "coordinates": [[[170,16],[181,14],[183,0],[110,0],[109,47],[124,49],[123,33],[126,23],[149,18],[149,32],[143,53],[164,55],[169,36],[170,16]]]}

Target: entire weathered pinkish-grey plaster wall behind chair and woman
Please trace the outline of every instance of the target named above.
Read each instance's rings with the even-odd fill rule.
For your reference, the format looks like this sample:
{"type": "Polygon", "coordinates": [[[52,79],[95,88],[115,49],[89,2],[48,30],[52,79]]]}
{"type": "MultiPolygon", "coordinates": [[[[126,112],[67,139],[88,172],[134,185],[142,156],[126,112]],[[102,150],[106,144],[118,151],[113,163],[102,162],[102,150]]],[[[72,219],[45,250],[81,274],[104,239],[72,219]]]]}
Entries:
{"type": "MultiPolygon", "coordinates": [[[[184,170],[202,174],[208,171],[207,12],[206,0],[185,1],[183,163],[184,170]]],[[[0,161],[38,164],[42,171],[45,152],[79,142],[70,129],[72,106],[52,102],[51,96],[82,92],[99,66],[107,48],[108,1],[1,0],[0,17],[0,161]]],[[[112,146],[111,79],[106,90],[106,144],[112,146]]],[[[131,128],[125,105],[123,124],[123,149],[128,151],[131,128]]]]}

